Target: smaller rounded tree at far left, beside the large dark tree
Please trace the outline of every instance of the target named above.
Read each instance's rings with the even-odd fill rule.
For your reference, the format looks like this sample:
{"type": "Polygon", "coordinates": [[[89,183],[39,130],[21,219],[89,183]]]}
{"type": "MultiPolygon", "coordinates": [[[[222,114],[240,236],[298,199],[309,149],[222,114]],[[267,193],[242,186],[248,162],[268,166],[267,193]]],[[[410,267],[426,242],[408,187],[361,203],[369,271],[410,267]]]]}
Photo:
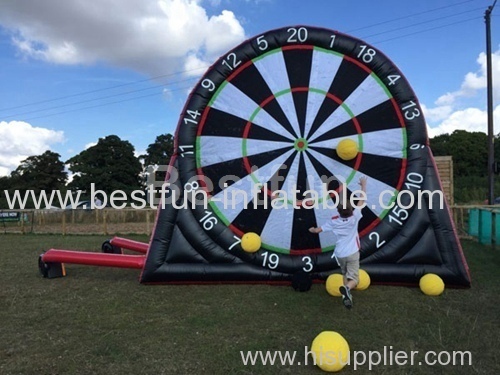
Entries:
{"type": "Polygon", "coordinates": [[[36,192],[58,190],[64,187],[68,173],[64,170],[61,155],[45,151],[41,155],[30,156],[11,173],[11,188],[36,192]]]}

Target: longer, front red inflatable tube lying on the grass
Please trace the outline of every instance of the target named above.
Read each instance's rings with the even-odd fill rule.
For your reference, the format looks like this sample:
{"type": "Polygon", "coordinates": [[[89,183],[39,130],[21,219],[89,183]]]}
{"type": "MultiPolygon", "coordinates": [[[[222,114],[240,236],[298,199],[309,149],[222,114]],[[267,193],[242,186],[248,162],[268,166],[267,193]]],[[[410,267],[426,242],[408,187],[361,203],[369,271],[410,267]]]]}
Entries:
{"type": "Polygon", "coordinates": [[[45,263],[74,263],[89,266],[142,269],[146,258],[143,255],[85,253],[81,251],[50,249],[42,255],[45,263]]]}

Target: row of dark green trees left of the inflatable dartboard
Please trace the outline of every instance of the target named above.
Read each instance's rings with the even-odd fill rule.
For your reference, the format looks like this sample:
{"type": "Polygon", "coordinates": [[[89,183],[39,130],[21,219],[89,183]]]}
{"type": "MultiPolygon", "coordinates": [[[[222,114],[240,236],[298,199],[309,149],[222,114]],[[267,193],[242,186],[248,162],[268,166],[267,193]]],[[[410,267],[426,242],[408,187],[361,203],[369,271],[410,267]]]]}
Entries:
{"type": "MultiPolygon", "coordinates": [[[[172,134],[156,137],[146,153],[136,156],[134,146],[116,135],[100,138],[96,145],[63,162],[61,155],[45,151],[21,161],[9,176],[0,177],[0,209],[8,208],[4,190],[12,196],[18,190],[24,194],[32,190],[35,194],[60,190],[89,191],[91,184],[95,190],[102,190],[108,196],[121,190],[130,196],[132,191],[145,188],[147,168],[150,165],[168,165],[174,152],[172,134]],[[68,182],[68,172],[72,172],[68,182]]],[[[157,172],[156,180],[165,178],[165,172],[157,172]]],[[[33,202],[28,200],[27,207],[33,202]]]]}

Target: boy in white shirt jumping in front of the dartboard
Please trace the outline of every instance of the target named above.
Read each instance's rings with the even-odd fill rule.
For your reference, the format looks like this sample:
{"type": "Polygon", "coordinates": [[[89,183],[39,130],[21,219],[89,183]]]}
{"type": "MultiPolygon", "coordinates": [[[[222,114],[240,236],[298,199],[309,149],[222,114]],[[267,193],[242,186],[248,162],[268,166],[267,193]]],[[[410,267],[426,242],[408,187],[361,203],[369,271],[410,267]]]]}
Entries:
{"type": "MultiPolygon", "coordinates": [[[[361,191],[364,196],[358,199],[357,205],[364,202],[366,196],[366,177],[359,179],[361,191]]],[[[338,216],[333,216],[331,220],[324,223],[322,226],[309,228],[311,233],[321,233],[323,231],[332,231],[337,237],[335,244],[334,256],[342,271],[344,277],[344,285],[339,288],[342,294],[342,302],[344,306],[350,309],[352,307],[351,290],[358,285],[359,281],[359,236],[358,224],[363,214],[361,209],[353,207],[350,199],[346,205],[339,205],[337,208],[338,216]]]]}

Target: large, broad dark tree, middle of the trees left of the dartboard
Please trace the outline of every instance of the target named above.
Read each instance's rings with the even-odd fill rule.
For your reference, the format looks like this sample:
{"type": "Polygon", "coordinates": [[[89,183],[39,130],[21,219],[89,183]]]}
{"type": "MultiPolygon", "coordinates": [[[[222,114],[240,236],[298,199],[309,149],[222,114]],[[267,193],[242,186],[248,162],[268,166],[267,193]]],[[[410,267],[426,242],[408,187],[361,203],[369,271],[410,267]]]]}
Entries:
{"type": "Polygon", "coordinates": [[[89,147],[67,161],[75,174],[69,184],[73,190],[103,190],[108,196],[122,190],[127,195],[140,188],[141,163],[134,155],[134,146],[116,135],[99,138],[89,147]]]}

